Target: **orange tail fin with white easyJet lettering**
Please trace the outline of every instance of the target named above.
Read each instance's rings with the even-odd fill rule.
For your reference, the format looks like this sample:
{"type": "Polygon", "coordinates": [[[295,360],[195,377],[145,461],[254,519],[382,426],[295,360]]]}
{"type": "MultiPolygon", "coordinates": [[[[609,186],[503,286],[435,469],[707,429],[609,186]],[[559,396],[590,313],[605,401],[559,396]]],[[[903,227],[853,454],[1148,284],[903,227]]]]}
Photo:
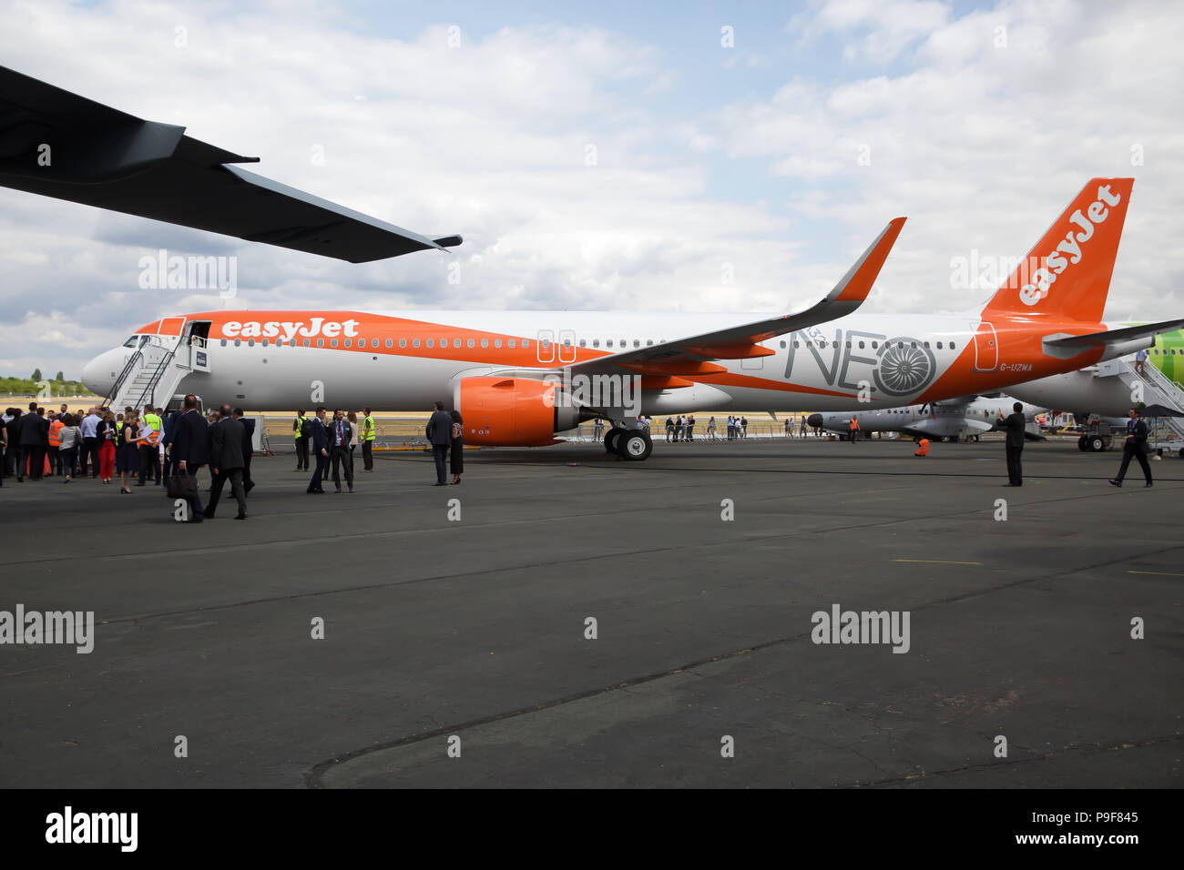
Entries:
{"type": "Polygon", "coordinates": [[[983,309],[1096,323],[1106,308],[1134,179],[1092,179],[983,309]]]}

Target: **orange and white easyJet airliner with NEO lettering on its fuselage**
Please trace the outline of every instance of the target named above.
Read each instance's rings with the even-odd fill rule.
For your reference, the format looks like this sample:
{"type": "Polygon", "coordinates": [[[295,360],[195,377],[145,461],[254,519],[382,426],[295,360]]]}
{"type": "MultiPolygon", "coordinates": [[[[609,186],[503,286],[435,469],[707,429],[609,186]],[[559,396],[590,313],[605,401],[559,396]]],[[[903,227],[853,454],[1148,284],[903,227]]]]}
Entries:
{"type": "Polygon", "coordinates": [[[175,393],[264,408],[423,410],[440,399],[470,444],[536,446],[581,419],[605,446],[652,445],[638,413],[851,411],[998,392],[1132,353],[1184,320],[1101,322],[1133,179],[1093,179],[980,311],[860,315],[905,223],[797,314],[206,311],[147,323],[91,361],[116,405],[175,393]]]}

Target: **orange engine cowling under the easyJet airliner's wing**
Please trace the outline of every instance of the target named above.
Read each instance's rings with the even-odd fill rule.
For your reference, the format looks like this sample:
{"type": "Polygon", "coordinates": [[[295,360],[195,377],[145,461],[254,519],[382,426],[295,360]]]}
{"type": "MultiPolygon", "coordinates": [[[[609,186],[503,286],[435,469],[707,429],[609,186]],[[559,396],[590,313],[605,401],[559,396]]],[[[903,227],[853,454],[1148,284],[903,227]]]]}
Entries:
{"type": "Polygon", "coordinates": [[[559,385],[529,378],[462,378],[452,398],[466,444],[555,444],[555,432],[574,428],[586,415],[565,400],[559,385]]]}

